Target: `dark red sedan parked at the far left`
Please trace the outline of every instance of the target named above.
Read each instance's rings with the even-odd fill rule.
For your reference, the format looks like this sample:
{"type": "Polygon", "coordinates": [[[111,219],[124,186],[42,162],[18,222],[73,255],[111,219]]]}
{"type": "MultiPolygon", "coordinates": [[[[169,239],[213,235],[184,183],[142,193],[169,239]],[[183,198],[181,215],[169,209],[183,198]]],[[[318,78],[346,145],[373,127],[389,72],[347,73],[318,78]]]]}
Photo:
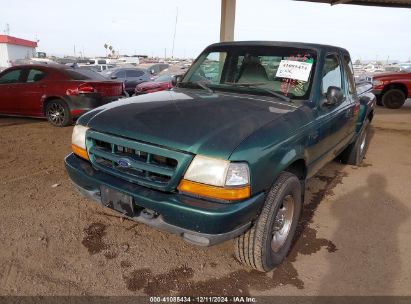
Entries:
{"type": "Polygon", "coordinates": [[[67,126],[82,113],[123,96],[122,82],[88,69],[21,65],[0,73],[0,114],[46,117],[67,126]]]}

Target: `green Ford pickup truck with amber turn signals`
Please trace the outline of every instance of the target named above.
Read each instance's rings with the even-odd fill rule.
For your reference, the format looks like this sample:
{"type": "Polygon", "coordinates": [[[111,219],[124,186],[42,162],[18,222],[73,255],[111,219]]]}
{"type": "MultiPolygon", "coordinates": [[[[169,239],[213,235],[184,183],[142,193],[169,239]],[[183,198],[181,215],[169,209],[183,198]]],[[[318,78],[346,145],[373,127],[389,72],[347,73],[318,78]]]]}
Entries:
{"type": "Polygon", "coordinates": [[[75,188],[192,244],[235,239],[240,262],[273,269],[306,179],[364,158],[371,85],[356,87],[345,49],[263,41],[213,44],[175,84],[78,119],[65,159],[75,188]]]}

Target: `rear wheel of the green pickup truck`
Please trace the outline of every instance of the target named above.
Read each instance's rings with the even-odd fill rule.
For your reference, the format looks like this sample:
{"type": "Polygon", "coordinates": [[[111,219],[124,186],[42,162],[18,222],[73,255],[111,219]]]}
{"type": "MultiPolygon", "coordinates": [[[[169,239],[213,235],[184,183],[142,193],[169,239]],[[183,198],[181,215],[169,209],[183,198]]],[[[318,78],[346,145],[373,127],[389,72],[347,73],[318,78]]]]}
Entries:
{"type": "Polygon", "coordinates": [[[362,163],[369,145],[370,121],[366,119],[355,142],[350,144],[340,155],[341,162],[358,166],[362,163]]]}

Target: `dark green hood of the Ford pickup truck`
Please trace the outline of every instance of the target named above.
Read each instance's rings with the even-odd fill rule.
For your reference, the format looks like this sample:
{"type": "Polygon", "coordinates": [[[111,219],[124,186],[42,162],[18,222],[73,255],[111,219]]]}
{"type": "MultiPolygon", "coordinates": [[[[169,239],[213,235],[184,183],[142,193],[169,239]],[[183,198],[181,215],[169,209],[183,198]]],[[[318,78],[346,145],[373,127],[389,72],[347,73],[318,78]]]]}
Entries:
{"type": "Polygon", "coordinates": [[[112,102],[78,123],[93,130],[228,159],[248,136],[297,106],[265,96],[175,89],[112,102]]]}

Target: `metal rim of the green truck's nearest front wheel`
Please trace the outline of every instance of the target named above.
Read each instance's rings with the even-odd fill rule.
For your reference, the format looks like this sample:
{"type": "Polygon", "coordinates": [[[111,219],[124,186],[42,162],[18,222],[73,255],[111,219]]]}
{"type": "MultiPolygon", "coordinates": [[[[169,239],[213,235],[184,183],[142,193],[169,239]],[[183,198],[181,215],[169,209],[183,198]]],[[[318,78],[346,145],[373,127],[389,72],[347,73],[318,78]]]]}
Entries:
{"type": "Polygon", "coordinates": [[[294,198],[287,195],[275,216],[271,239],[271,249],[274,252],[278,252],[288,238],[293,222],[294,203],[294,198]]]}

